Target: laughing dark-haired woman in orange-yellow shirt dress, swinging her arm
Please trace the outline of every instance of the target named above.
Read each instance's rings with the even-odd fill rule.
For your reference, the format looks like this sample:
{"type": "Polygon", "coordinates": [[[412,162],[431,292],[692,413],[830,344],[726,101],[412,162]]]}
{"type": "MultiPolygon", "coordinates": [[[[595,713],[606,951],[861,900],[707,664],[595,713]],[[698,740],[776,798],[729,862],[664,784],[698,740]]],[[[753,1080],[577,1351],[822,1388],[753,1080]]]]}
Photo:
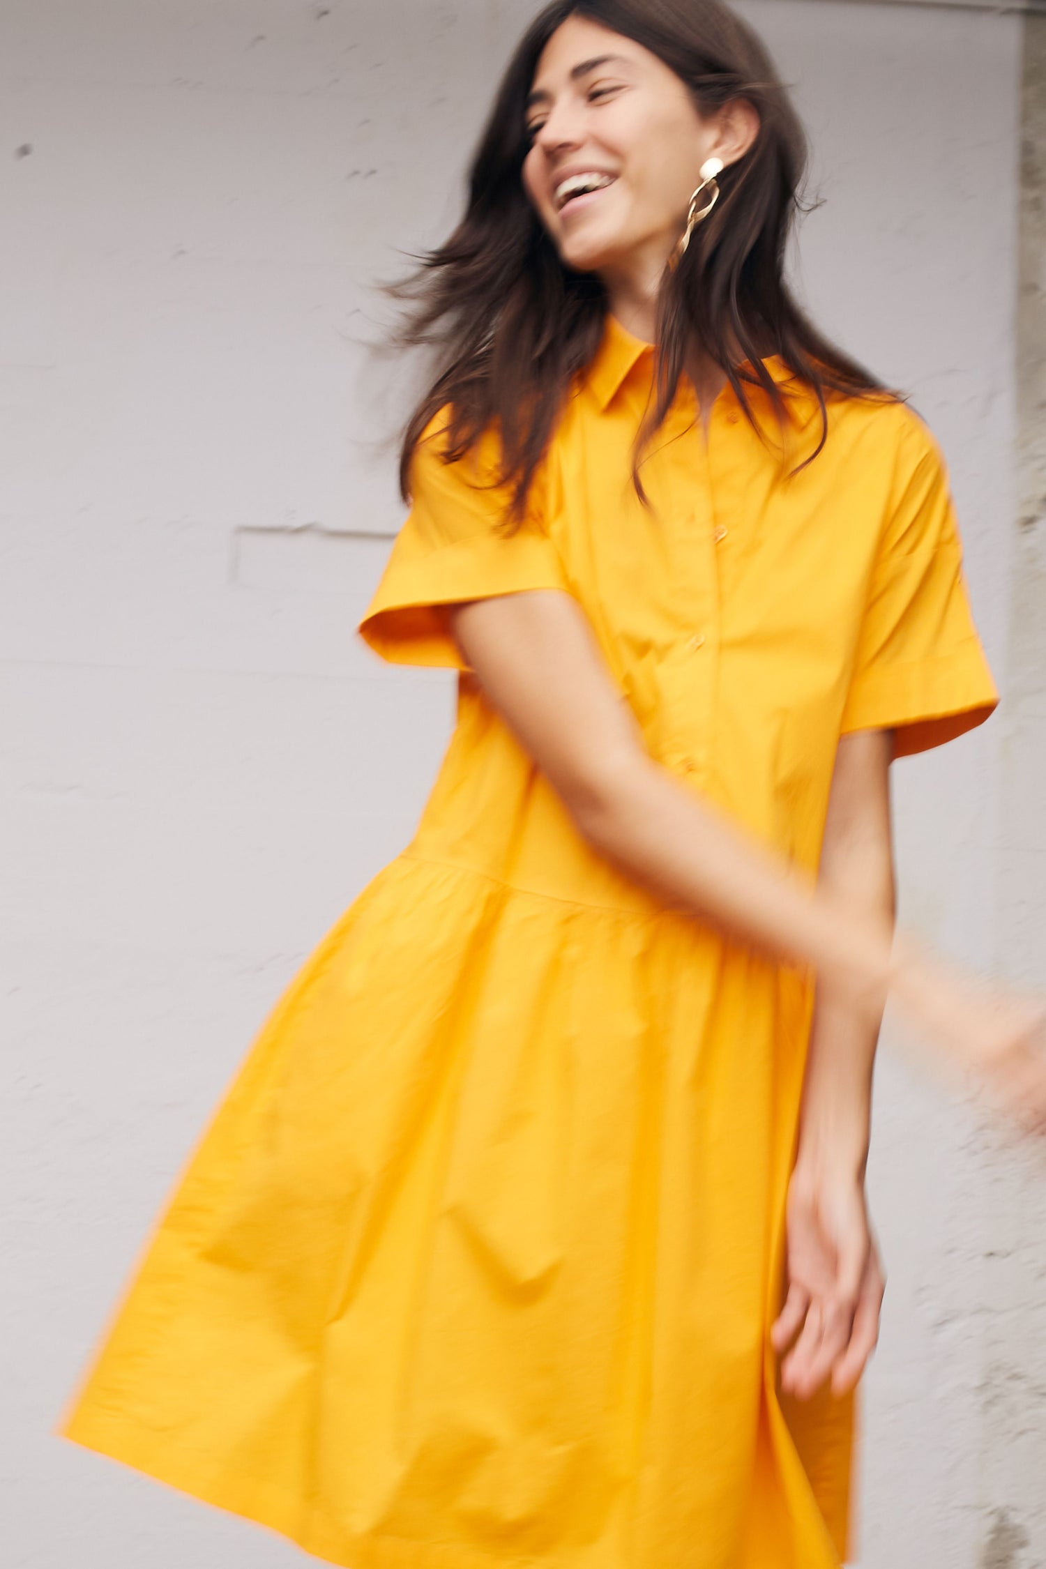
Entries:
{"type": "Polygon", "coordinates": [[[334,1563],[837,1564],[888,990],[1041,1123],[1037,1015],[894,940],[891,759],[996,690],[933,439],[783,282],[800,176],[715,0],[563,0],[422,268],[359,629],[458,723],[60,1429],[334,1563]]]}

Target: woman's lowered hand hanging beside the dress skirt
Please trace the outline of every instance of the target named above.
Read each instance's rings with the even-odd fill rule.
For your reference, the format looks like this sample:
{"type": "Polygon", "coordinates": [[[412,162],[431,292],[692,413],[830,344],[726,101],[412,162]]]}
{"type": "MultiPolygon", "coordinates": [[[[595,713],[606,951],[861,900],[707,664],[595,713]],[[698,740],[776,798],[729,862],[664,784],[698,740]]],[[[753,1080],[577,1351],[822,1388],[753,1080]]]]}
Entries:
{"type": "Polygon", "coordinates": [[[800,1159],[787,1199],[787,1294],[770,1331],[786,1392],[806,1400],[826,1378],[837,1396],[853,1389],[878,1340],[884,1287],[863,1178],[800,1159]]]}

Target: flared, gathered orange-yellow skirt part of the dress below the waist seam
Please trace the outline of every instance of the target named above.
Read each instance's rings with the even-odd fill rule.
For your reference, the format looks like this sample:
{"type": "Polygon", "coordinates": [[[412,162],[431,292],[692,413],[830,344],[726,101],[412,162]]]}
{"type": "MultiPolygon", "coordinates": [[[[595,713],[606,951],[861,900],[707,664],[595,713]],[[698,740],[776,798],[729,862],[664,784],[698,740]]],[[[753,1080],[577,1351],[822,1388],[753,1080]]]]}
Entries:
{"type": "Polygon", "coordinates": [[[837,1563],[850,1404],[792,1431],[767,1340],[804,1010],[677,912],[401,854],[267,1020],[61,1431],[356,1569],[837,1563]]]}

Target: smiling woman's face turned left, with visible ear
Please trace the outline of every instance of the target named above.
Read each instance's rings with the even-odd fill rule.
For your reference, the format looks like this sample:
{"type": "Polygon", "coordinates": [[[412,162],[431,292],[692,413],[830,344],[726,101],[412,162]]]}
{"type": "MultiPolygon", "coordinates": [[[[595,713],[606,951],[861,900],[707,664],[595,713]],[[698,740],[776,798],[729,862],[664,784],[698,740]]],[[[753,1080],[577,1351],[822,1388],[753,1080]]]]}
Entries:
{"type": "Polygon", "coordinates": [[[522,169],[563,264],[605,279],[659,275],[685,228],[704,160],[726,165],[737,147],[746,151],[734,119],[701,116],[674,71],[641,44],[568,17],[535,71],[522,169]],[[565,202],[563,180],[587,173],[607,184],[565,202]]]}

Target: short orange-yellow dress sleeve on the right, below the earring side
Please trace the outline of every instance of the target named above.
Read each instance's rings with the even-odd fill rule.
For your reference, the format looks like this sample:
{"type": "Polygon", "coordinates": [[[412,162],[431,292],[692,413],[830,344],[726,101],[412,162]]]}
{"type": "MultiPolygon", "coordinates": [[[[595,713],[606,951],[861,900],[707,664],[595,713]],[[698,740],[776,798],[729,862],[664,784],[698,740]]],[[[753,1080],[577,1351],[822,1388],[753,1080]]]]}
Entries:
{"type": "Polygon", "coordinates": [[[891,501],[872,566],[842,733],[895,731],[894,756],[983,723],[999,701],[974,628],[941,450],[902,410],[891,501]]]}

